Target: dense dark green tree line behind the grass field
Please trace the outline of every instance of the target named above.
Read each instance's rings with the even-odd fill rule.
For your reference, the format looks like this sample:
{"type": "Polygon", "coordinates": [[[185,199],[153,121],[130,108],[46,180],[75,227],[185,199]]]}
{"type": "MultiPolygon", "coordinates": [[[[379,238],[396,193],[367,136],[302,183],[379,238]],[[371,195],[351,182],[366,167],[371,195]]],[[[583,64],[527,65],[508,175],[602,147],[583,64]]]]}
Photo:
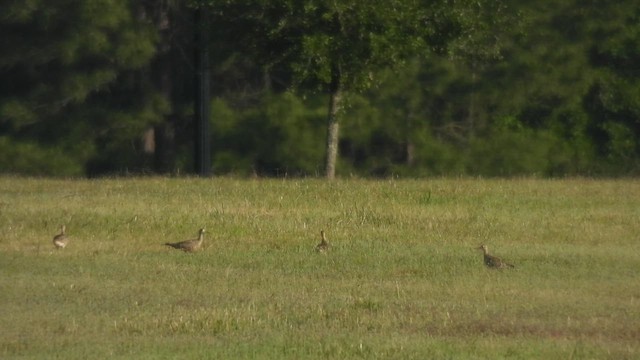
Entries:
{"type": "Polygon", "coordinates": [[[0,0],[0,172],[640,173],[623,0],[0,0]]]}

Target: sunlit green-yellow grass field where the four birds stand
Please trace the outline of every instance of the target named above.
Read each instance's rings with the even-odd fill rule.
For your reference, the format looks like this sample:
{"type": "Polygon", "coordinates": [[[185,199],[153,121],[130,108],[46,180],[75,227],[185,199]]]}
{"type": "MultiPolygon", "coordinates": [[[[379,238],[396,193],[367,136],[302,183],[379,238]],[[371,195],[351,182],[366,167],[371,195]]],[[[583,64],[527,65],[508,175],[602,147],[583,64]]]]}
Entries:
{"type": "Polygon", "coordinates": [[[0,229],[3,359],[640,358],[637,180],[0,177],[0,229]]]}

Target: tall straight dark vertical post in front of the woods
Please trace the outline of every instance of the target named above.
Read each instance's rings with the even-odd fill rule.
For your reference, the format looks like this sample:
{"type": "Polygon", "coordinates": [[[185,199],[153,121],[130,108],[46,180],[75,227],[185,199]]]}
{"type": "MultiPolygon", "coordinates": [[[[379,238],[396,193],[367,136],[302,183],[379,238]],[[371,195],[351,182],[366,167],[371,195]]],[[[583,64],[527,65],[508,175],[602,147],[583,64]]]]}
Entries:
{"type": "Polygon", "coordinates": [[[199,176],[211,175],[211,116],[209,69],[209,19],[207,9],[195,10],[195,172],[199,176]]]}

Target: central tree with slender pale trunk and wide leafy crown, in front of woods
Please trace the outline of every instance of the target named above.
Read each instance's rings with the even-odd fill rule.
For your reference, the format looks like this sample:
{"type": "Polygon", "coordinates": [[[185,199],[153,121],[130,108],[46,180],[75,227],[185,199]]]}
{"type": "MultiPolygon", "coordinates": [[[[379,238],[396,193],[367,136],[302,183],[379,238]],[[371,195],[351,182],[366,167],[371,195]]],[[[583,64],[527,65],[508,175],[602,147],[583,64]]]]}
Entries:
{"type": "MultiPolygon", "coordinates": [[[[266,69],[286,64],[295,87],[328,94],[325,175],[331,179],[343,93],[369,88],[377,70],[424,51],[428,36],[443,40],[448,33],[436,30],[451,24],[446,3],[424,8],[418,1],[404,0],[255,0],[213,7],[221,15],[217,20],[241,21],[243,28],[255,29],[237,43],[247,44],[256,58],[264,59],[266,69]]],[[[217,20],[212,21],[219,26],[217,20]]]]}

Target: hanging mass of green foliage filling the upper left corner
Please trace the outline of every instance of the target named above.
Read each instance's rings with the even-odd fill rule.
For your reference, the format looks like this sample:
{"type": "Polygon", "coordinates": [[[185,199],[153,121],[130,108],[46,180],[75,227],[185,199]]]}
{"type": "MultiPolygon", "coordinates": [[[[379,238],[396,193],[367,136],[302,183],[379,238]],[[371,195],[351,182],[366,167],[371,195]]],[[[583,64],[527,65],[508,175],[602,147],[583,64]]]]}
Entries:
{"type": "MultiPolygon", "coordinates": [[[[0,95],[39,116],[83,102],[118,70],[139,67],[155,51],[155,39],[134,22],[125,0],[13,2],[4,10],[2,75],[20,85],[5,83],[0,95]]],[[[10,115],[0,119],[12,122],[10,115]]]]}

